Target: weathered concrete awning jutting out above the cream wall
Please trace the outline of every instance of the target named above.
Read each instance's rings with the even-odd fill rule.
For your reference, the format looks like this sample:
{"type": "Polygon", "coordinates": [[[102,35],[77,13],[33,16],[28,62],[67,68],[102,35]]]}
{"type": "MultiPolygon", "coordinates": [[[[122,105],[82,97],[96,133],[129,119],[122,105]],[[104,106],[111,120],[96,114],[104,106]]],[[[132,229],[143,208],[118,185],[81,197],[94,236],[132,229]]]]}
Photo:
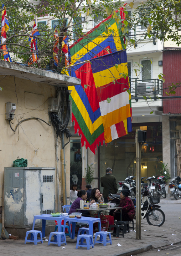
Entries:
{"type": "Polygon", "coordinates": [[[0,61],[0,75],[15,76],[33,82],[48,85],[67,87],[81,84],[81,79],[59,75],[46,70],[17,65],[12,62],[0,61]]]}

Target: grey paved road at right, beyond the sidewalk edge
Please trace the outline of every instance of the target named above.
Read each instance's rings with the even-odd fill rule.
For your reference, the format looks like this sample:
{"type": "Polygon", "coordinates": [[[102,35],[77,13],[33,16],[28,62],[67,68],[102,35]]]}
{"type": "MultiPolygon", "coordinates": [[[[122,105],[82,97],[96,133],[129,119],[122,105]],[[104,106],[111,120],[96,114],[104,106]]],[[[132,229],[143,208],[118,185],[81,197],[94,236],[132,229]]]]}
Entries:
{"type": "MultiPolygon", "coordinates": [[[[161,210],[165,213],[165,223],[162,225],[170,230],[179,231],[181,230],[181,204],[160,204],[161,210]],[[180,219],[179,219],[180,218],[180,219]]],[[[145,222],[143,220],[142,222],[145,222]]],[[[145,222],[146,223],[146,222],[145,222]]],[[[153,249],[148,252],[144,252],[142,254],[137,254],[138,256],[181,256],[181,243],[173,245],[161,247],[159,249],[153,249]],[[158,251],[160,250],[160,251],[158,251]]]]}

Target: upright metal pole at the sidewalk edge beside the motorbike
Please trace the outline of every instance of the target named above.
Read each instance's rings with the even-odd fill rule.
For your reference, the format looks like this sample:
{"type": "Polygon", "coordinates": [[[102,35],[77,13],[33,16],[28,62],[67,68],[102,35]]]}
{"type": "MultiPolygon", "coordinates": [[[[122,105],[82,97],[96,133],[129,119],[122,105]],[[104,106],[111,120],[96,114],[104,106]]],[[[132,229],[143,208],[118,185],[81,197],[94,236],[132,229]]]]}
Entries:
{"type": "Polygon", "coordinates": [[[136,239],[141,239],[141,143],[138,142],[138,130],[135,134],[136,143],[136,239]]]}

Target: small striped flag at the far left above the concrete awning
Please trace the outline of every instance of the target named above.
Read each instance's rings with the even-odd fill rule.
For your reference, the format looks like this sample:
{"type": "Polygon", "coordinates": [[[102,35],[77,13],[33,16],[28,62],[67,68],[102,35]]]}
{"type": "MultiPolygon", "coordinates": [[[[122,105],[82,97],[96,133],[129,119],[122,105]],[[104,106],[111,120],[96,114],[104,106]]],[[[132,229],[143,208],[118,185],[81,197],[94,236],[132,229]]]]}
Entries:
{"type": "MultiPolygon", "coordinates": [[[[4,43],[4,41],[6,40],[6,32],[9,30],[9,22],[7,20],[7,16],[6,16],[6,8],[4,6],[4,4],[2,5],[2,21],[1,21],[1,43],[4,43]]],[[[7,49],[7,45],[2,45],[1,49],[3,50],[3,55],[4,55],[4,60],[5,61],[11,61],[11,57],[9,54],[9,51],[7,49]]]]}

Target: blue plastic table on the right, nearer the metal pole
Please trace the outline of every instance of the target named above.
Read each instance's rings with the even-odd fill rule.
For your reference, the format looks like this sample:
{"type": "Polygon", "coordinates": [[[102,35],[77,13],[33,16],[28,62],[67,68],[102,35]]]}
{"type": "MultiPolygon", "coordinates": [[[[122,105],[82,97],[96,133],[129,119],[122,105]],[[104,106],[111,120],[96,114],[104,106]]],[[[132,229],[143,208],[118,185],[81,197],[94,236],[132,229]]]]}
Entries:
{"type": "Polygon", "coordinates": [[[89,225],[89,235],[93,236],[93,224],[95,222],[98,222],[98,228],[99,228],[99,231],[101,231],[99,218],[82,217],[81,219],[77,219],[76,217],[75,218],[65,217],[64,225],[63,225],[63,232],[65,232],[66,222],[68,222],[70,230],[71,230],[70,222],[72,222],[72,237],[71,237],[71,239],[74,239],[74,237],[75,237],[76,222],[87,223],[89,225]]]}

